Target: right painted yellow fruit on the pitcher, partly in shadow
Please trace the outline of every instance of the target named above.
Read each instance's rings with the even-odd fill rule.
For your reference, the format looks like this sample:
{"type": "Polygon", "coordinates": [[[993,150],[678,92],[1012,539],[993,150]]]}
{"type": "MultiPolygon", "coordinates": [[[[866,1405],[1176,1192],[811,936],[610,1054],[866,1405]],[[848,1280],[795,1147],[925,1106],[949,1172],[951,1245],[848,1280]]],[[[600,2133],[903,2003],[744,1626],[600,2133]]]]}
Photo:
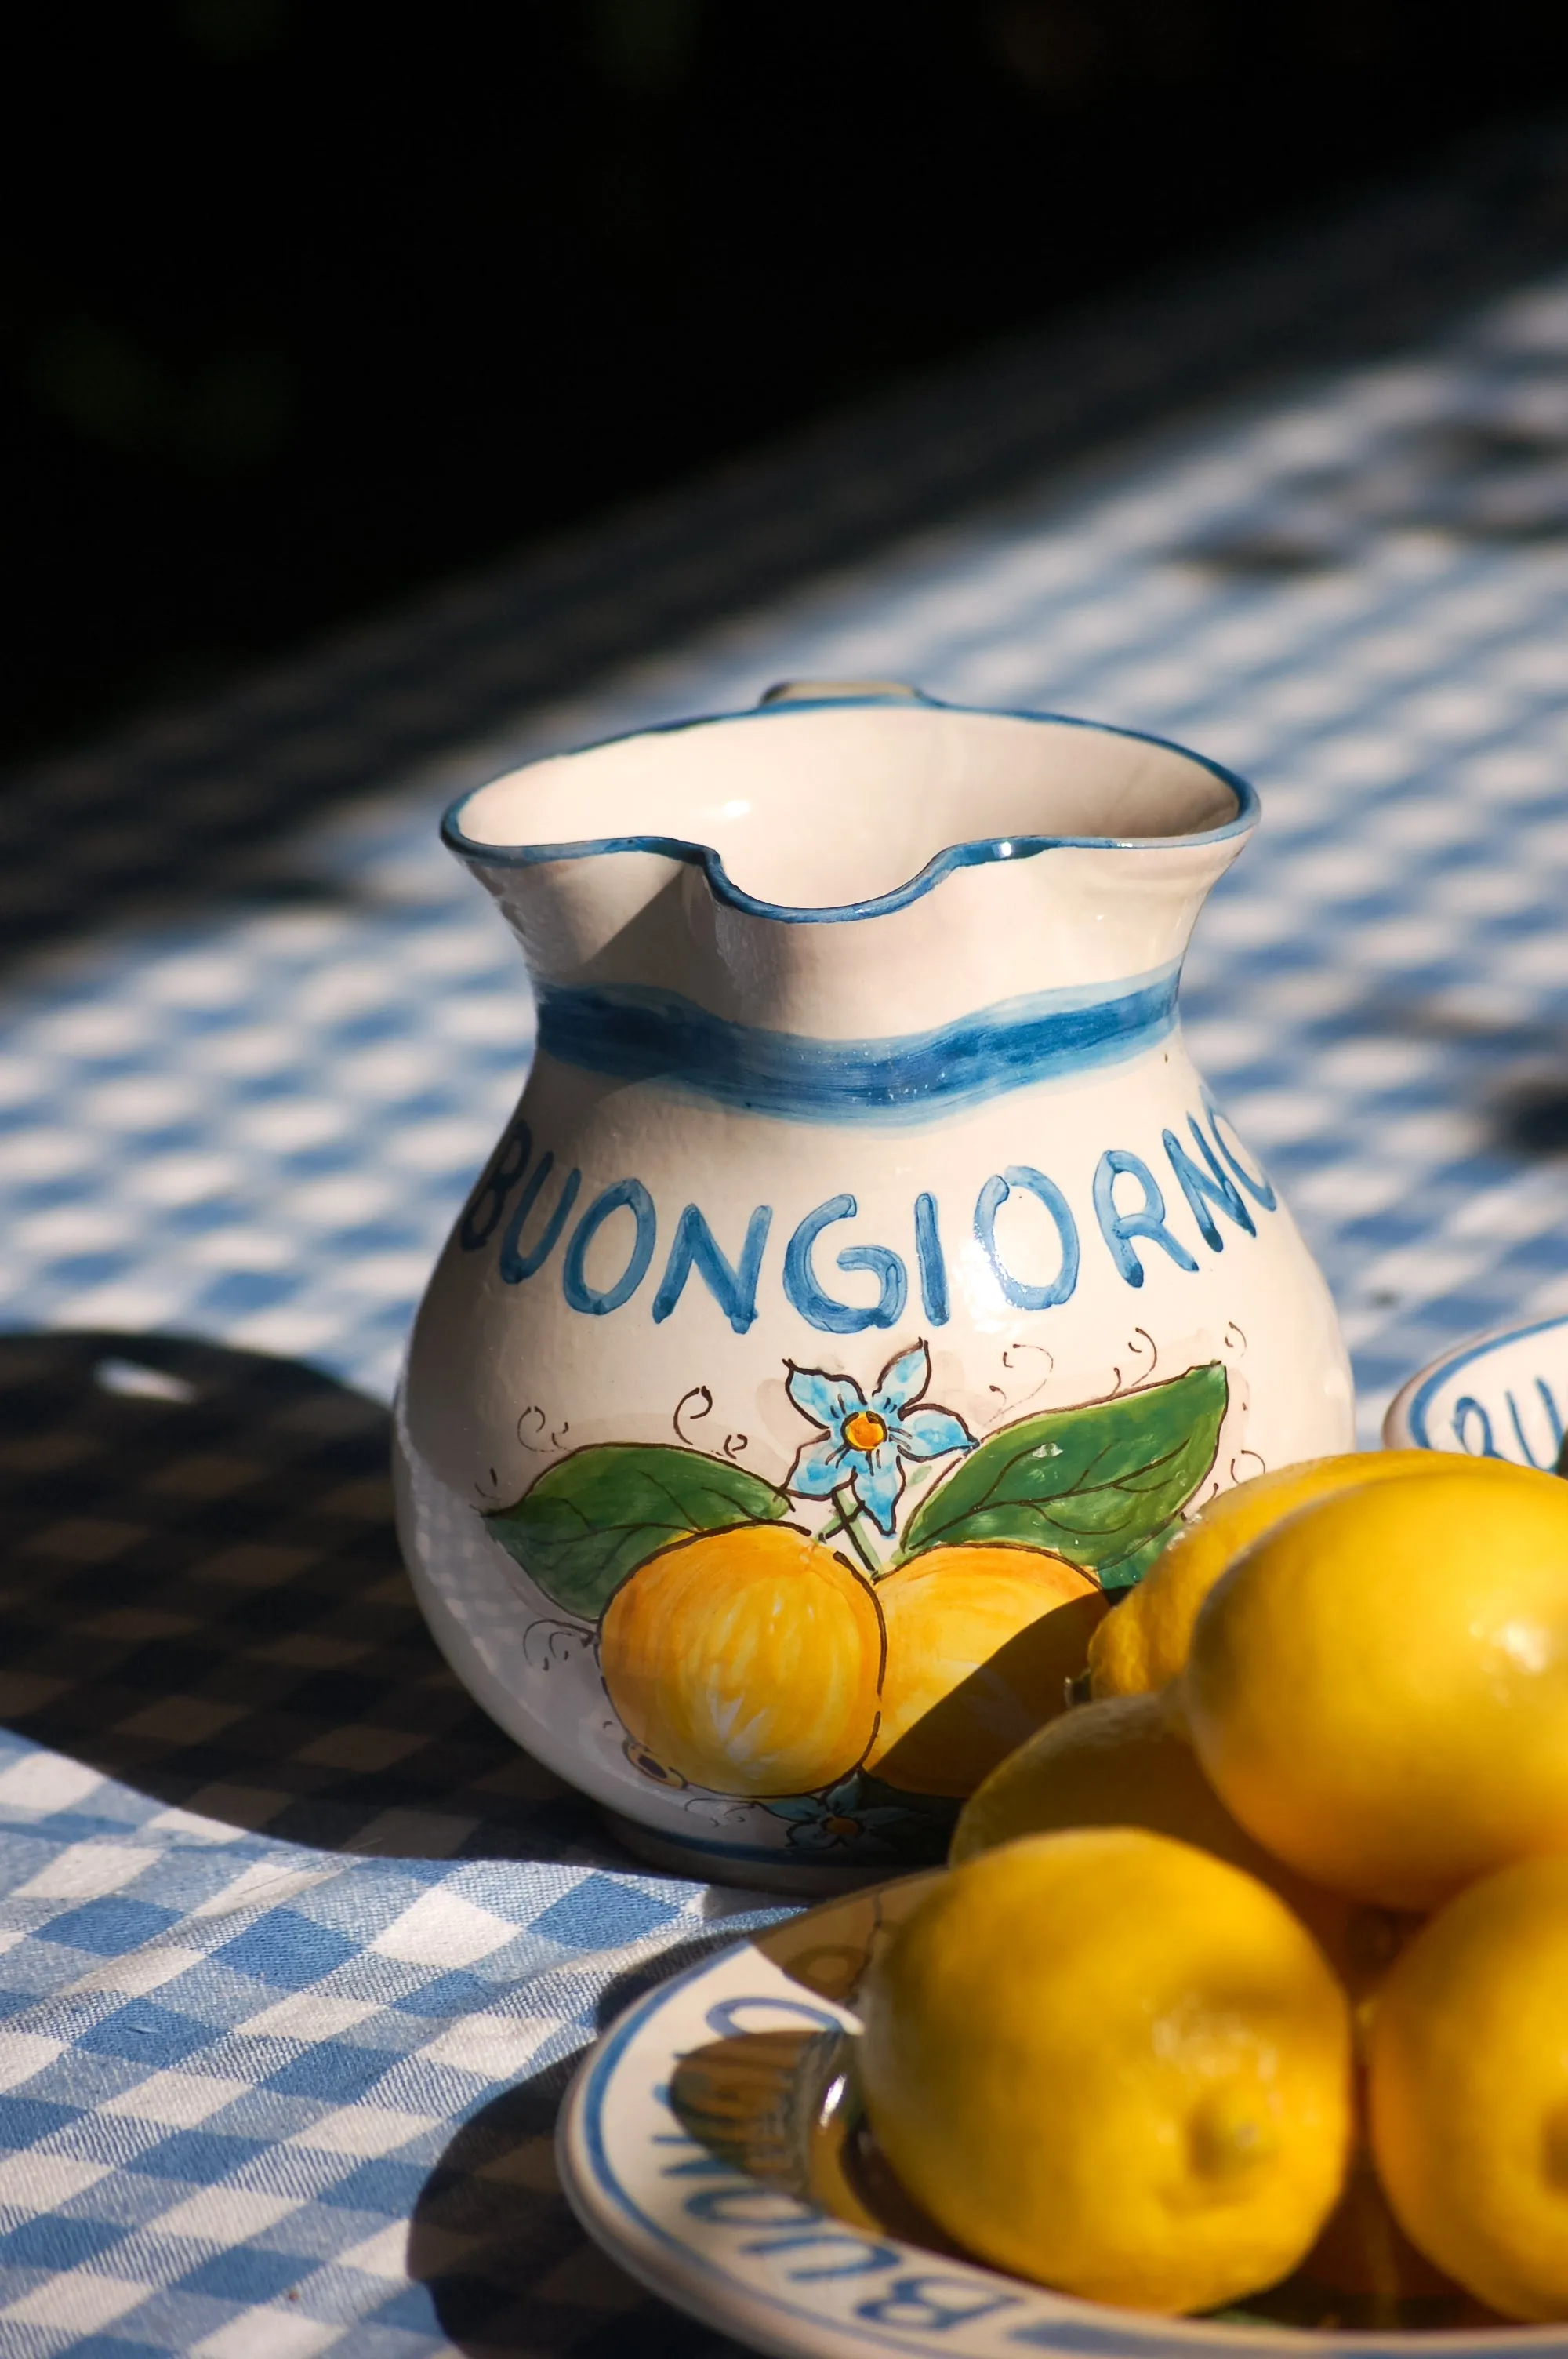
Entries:
{"type": "Polygon", "coordinates": [[[1040,1548],[931,1548],[877,1581],[882,1724],[865,1767],[905,1793],[974,1793],[1066,1710],[1106,1611],[1096,1581],[1040,1548]]]}

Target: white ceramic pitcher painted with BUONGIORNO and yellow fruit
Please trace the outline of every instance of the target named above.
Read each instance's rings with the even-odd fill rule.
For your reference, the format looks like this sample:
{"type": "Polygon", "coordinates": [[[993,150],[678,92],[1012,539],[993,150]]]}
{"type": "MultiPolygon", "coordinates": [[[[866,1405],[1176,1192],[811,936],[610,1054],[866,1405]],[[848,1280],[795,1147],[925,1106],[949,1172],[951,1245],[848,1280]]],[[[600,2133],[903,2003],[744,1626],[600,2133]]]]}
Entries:
{"type": "Polygon", "coordinates": [[[1061,1698],[1023,1630],[1349,1446],[1323,1281],[1177,1024],[1252,823],[1179,748],[875,689],[448,816],[540,1036],[415,1326],[403,1548],[486,1710],[653,1857],[941,1857],[1061,1698]]]}

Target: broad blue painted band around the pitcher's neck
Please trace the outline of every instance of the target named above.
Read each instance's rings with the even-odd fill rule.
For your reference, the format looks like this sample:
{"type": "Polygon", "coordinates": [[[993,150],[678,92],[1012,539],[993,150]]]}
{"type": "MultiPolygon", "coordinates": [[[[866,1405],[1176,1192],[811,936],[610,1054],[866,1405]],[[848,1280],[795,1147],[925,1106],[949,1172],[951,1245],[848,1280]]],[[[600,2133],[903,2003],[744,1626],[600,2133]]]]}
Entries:
{"type": "Polygon", "coordinates": [[[663,1080],[790,1123],[922,1123],[1033,1080],[1122,1064],[1177,1021],[1179,965],[1035,991],[889,1040],[813,1040],[714,1017],[641,984],[540,986],[540,1050],[613,1080],[663,1080]]]}

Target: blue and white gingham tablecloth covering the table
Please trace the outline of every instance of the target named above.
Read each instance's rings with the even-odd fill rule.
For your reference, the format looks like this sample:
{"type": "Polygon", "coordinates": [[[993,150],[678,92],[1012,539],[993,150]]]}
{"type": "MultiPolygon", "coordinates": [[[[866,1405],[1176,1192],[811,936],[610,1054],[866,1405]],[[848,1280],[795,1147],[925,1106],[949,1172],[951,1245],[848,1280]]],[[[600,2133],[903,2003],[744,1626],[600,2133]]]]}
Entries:
{"type": "Polygon", "coordinates": [[[71,908],[2,979],[5,2359],[717,2350],[582,2243],[549,2130],[597,2022],[766,1908],[620,1859],[443,1670],[389,1533],[401,1338],[528,1057],[446,797],[792,675],[1254,776],[1186,1019],[1330,1274],[1370,1441],[1436,1347],[1568,1307],[1566,623],[1568,278],[1537,274],[483,743],[457,715],[516,625],[457,599],[424,672],[387,642],[377,790],[198,878],[182,828],[363,769],[332,663],[375,639],[7,802],[17,939],[71,908]]]}

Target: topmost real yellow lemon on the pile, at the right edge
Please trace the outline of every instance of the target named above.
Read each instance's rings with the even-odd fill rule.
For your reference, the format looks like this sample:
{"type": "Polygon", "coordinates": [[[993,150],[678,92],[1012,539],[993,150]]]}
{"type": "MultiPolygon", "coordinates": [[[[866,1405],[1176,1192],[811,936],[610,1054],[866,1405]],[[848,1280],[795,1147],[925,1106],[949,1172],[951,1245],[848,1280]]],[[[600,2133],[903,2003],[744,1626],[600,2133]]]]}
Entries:
{"type": "Polygon", "coordinates": [[[1184,1708],[1240,1824],[1358,1899],[1568,1847],[1568,1484],[1436,1463],[1299,1510],[1205,1599],[1184,1708]]]}

